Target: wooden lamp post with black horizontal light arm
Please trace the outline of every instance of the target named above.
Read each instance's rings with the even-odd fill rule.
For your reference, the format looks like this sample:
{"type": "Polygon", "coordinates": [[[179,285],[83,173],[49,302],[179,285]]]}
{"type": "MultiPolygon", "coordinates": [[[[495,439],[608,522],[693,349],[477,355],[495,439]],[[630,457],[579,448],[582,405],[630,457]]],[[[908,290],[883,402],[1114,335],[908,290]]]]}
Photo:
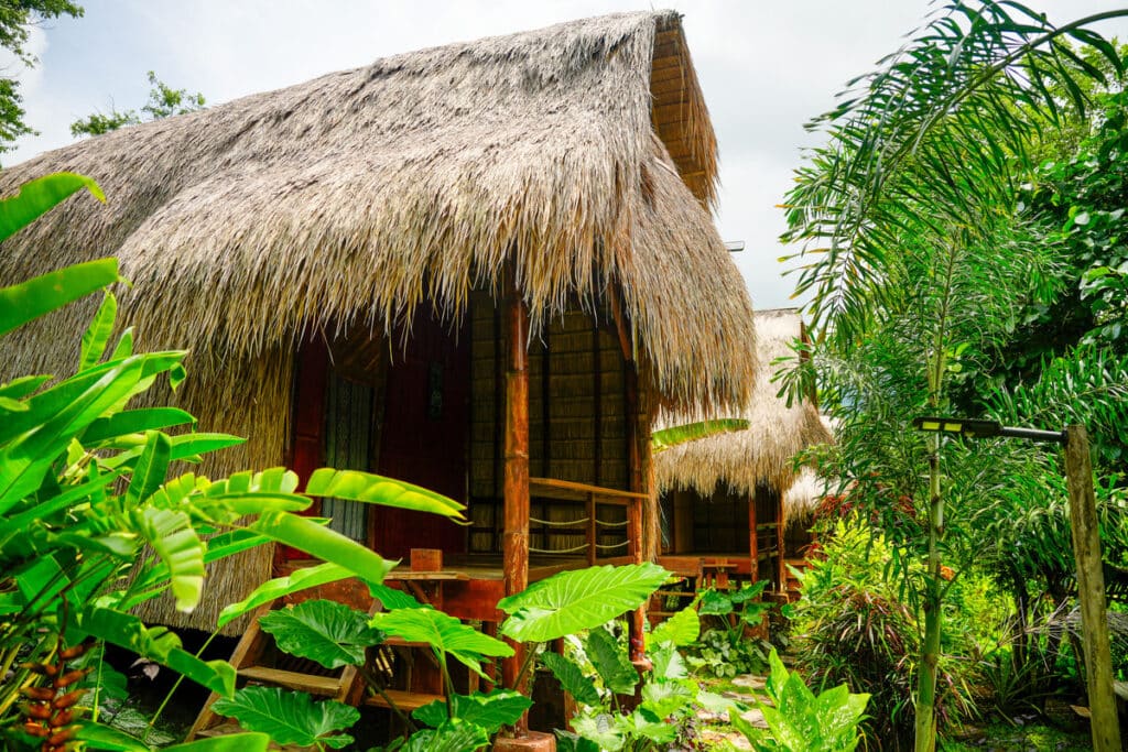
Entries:
{"type": "Polygon", "coordinates": [[[1081,631],[1085,653],[1089,708],[1092,714],[1093,749],[1120,752],[1120,726],[1112,684],[1108,614],[1104,604],[1104,570],[1101,538],[1093,494],[1093,468],[1089,458],[1089,435],[1081,425],[1065,431],[1038,431],[1004,426],[997,421],[924,416],[913,427],[929,433],[959,434],[967,439],[1008,436],[1049,441],[1065,448],[1066,481],[1069,487],[1069,528],[1077,567],[1077,600],[1081,601],[1081,631]]]}

